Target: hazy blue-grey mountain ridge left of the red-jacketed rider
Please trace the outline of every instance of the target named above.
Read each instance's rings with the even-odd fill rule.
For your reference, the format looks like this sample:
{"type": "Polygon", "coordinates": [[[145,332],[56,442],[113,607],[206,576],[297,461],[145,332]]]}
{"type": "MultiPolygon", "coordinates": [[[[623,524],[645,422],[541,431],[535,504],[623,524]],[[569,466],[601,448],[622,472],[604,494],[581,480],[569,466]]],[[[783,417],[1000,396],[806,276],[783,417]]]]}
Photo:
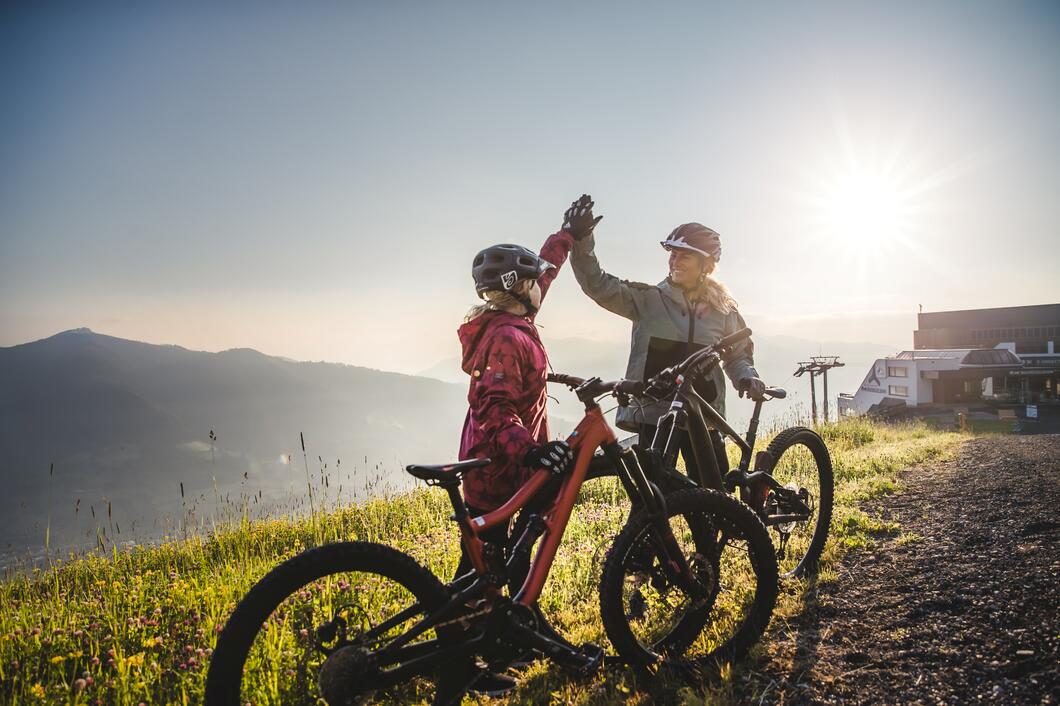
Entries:
{"type": "Polygon", "coordinates": [[[180,514],[181,482],[186,507],[240,492],[304,496],[300,433],[314,476],[329,464],[333,494],[396,486],[404,463],[456,458],[465,410],[461,386],[249,349],[87,329],[0,348],[0,551],[42,543],[49,507],[53,544],[94,536],[106,500],[124,536],[142,534],[180,514]]]}

